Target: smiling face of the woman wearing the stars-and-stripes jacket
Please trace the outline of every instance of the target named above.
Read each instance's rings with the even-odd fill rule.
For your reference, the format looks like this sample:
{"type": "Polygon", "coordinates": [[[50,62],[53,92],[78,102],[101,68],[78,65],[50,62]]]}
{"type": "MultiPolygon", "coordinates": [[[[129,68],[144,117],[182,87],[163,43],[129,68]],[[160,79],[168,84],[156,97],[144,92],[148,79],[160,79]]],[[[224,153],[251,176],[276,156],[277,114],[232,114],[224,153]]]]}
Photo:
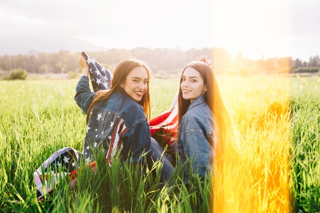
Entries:
{"type": "Polygon", "coordinates": [[[128,74],[125,82],[120,86],[126,91],[133,101],[140,102],[148,89],[147,70],[142,66],[133,68],[128,74]]]}

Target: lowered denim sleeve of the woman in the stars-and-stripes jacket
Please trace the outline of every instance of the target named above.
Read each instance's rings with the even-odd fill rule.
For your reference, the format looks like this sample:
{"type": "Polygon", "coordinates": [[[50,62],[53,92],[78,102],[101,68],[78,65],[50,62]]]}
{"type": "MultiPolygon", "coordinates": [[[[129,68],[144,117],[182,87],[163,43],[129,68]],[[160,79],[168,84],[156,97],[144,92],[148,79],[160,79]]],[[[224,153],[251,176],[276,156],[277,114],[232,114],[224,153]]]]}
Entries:
{"type": "Polygon", "coordinates": [[[130,135],[124,138],[126,147],[124,148],[124,155],[132,158],[133,163],[137,163],[140,160],[140,156],[143,153],[150,152],[151,149],[151,135],[150,126],[147,120],[137,122],[128,131],[130,135]],[[132,154],[132,156],[131,156],[132,154]]]}

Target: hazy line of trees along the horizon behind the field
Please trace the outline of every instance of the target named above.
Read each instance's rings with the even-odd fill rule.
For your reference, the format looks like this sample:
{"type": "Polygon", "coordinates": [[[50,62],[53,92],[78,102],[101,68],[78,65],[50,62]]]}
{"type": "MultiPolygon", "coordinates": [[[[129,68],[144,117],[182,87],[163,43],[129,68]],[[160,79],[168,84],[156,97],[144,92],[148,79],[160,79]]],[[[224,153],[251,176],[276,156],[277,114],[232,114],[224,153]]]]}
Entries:
{"type": "MultiPolygon", "coordinates": [[[[262,57],[259,60],[252,60],[242,57],[242,53],[239,51],[237,57],[232,59],[231,55],[222,48],[190,49],[188,51],[182,51],[179,48],[110,49],[104,52],[87,52],[87,54],[111,70],[125,58],[139,59],[145,61],[153,73],[180,70],[189,62],[199,60],[202,57],[211,60],[213,69],[219,73],[314,73],[318,72],[318,67],[320,67],[319,56],[312,56],[309,61],[303,61],[299,58],[292,59],[291,57],[268,59],[262,57]]],[[[0,57],[1,70],[17,68],[35,74],[78,72],[78,53],[60,51],[58,53],[4,55],[0,57]]]]}

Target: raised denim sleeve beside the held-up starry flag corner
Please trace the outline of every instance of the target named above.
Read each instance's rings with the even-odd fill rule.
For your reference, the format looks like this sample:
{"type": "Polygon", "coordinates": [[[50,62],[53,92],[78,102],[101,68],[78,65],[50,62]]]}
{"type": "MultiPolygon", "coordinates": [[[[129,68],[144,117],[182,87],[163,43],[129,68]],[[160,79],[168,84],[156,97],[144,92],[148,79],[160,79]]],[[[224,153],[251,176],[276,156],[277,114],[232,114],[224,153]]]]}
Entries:
{"type": "Polygon", "coordinates": [[[88,77],[81,76],[76,87],[75,101],[85,114],[94,98],[95,92],[90,91],[88,77]]]}

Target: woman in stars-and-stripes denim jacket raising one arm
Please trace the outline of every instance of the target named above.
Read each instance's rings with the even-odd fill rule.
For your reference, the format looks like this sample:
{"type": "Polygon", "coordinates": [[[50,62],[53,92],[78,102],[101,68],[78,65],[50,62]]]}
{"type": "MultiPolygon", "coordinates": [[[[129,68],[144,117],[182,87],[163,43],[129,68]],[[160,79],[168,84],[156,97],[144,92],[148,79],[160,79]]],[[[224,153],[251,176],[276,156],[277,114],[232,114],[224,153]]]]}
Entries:
{"type": "Polygon", "coordinates": [[[113,72],[111,89],[91,92],[89,89],[89,67],[79,55],[83,69],[75,100],[87,114],[87,131],[83,145],[83,157],[94,158],[94,151],[102,150],[111,164],[111,158],[121,152],[126,160],[138,162],[148,152],[149,167],[153,161],[162,160],[164,168],[161,179],[167,179],[174,170],[169,159],[162,156],[157,142],[150,136],[150,70],[142,62],[133,59],[121,61],[113,72]]]}

